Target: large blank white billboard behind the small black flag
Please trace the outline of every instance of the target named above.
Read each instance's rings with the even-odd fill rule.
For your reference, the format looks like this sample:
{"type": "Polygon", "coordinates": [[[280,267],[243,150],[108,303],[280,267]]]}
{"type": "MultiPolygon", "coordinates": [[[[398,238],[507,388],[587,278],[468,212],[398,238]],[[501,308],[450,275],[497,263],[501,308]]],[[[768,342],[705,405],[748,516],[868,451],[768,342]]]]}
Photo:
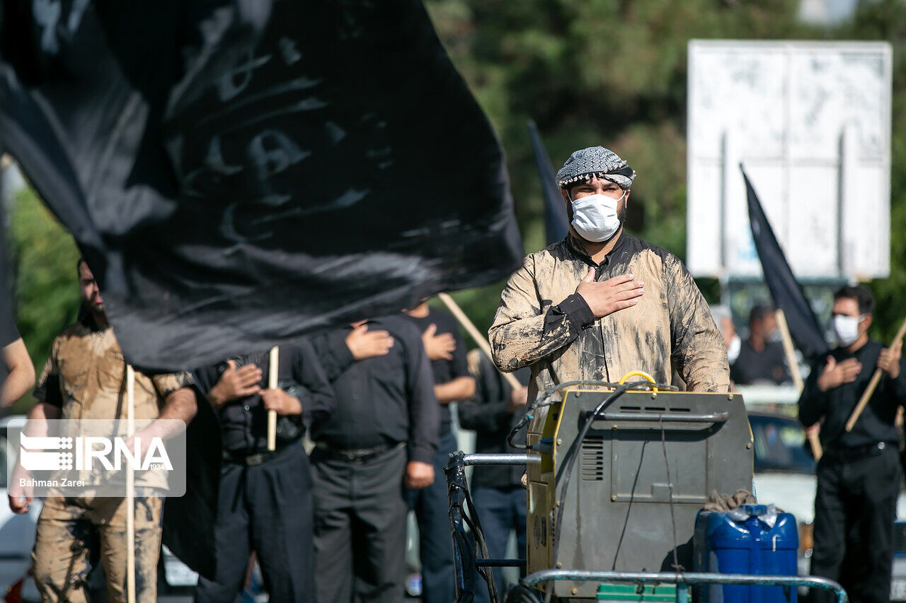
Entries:
{"type": "Polygon", "coordinates": [[[742,163],[799,277],[890,273],[889,43],[689,42],[687,263],[761,274],[742,163]]]}

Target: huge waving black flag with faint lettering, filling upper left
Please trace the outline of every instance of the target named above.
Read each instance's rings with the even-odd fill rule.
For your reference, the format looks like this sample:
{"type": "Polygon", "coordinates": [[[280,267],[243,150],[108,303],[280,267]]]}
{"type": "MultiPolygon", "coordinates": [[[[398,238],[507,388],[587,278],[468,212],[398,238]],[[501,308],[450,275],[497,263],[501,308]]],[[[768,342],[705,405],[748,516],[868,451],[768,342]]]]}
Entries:
{"type": "Polygon", "coordinates": [[[130,361],[201,366],[495,282],[501,148],[419,0],[5,0],[0,140],[130,361]]]}

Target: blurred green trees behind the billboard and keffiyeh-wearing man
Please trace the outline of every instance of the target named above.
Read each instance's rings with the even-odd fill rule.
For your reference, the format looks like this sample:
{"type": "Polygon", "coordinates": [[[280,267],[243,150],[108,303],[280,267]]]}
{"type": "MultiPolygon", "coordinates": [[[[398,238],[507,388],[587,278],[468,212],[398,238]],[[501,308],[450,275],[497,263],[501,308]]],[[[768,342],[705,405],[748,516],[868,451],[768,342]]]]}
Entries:
{"type": "MultiPolygon", "coordinates": [[[[893,131],[906,126],[906,5],[860,3],[852,23],[799,24],[798,0],[427,0],[441,41],[506,148],[516,216],[529,252],[544,246],[541,186],[525,121],[535,120],[554,168],[602,144],[638,172],[629,229],[686,252],[686,54],[693,38],[887,40],[894,47],[893,131]]],[[[892,262],[874,335],[902,319],[906,291],[906,140],[892,148],[892,262]],[[898,303],[899,302],[899,303],[898,303]]],[[[820,251],[820,250],[819,250],[820,251]]],[[[718,283],[699,282],[709,302],[718,283]]],[[[487,328],[499,287],[457,296],[487,328]]]]}

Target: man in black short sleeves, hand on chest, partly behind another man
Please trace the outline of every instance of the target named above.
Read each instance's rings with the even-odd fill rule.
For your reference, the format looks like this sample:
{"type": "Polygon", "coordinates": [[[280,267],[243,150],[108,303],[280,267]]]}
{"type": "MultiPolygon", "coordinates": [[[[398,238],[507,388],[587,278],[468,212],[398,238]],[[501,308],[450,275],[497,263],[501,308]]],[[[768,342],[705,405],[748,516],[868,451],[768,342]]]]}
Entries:
{"type": "MultiPolygon", "coordinates": [[[[406,315],[419,328],[425,352],[434,375],[434,395],[440,405],[440,431],[434,473],[443,476],[449,455],[457,449],[450,430],[451,402],[467,400],[475,393],[475,379],[468,372],[466,345],[457,321],[444,311],[433,310],[428,301],[407,310],[406,315]]],[[[438,479],[428,488],[410,492],[410,509],[419,520],[421,558],[421,599],[424,603],[453,600],[453,545],[450,541],[447,483],[438,479]]]]}

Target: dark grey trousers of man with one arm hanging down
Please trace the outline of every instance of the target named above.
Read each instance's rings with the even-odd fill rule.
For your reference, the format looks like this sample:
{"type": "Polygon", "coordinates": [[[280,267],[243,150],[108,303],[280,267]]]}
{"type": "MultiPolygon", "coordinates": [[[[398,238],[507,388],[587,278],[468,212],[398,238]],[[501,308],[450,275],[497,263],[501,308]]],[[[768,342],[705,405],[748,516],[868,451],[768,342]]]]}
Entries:
{"type": "Polygon", "coordinates": [[[398,603],[406,578],[406,446],[364,463],[312,451],[319,603],[398,603]]]}

